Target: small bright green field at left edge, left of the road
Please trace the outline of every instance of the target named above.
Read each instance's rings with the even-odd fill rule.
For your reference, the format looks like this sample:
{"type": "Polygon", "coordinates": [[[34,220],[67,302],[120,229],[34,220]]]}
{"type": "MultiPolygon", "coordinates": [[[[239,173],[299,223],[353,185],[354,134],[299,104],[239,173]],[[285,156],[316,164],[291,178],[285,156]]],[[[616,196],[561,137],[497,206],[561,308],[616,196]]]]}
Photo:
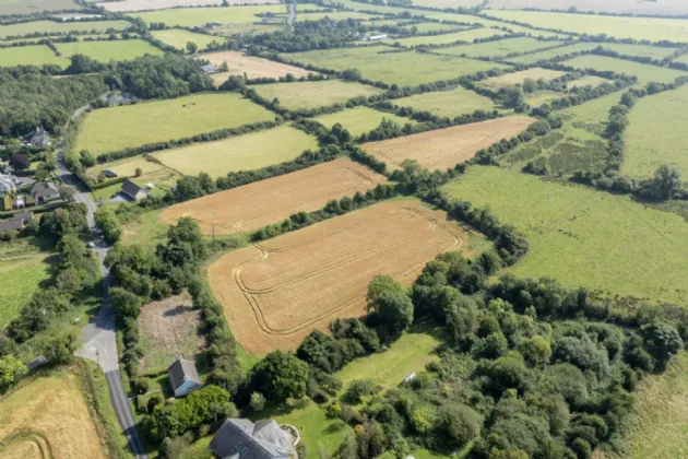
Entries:
{"type": "Polygon", "coordinates": [[[0,261],[0,325],[7,326],[17,316],[34,292],[44,289],[51,278],[48,257],[0,261]]]}

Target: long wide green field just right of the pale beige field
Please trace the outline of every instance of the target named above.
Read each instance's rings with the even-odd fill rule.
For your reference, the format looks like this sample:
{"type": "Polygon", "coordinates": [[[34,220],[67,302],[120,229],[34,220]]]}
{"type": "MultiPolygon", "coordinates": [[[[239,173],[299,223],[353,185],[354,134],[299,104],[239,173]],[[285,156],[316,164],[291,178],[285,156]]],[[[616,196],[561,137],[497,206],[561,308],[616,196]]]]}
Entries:
{"type": "Polygon", "coordinates": [[[453,56],[414,51],[389,52],[385,46],[328,49],[282,55],[295,62],[333,70],[358,69],[364,78],[388,84],[413,86],[438,80],[456,79],[507,66],[453,56]],[[380,52],[388,51],[388,52],[380,52]]]}

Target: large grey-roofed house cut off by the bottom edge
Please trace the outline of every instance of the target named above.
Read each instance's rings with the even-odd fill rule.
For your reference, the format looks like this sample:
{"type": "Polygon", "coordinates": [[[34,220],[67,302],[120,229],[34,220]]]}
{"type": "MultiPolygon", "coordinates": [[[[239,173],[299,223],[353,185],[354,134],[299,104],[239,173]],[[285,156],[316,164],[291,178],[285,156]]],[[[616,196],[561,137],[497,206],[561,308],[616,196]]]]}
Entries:
{"type": "Polygon", "coordinates": [[[221,459],[289,459],[294,455],[292,436],[272,421],[228,419],[213,437],[210,447],[221,459]]]}

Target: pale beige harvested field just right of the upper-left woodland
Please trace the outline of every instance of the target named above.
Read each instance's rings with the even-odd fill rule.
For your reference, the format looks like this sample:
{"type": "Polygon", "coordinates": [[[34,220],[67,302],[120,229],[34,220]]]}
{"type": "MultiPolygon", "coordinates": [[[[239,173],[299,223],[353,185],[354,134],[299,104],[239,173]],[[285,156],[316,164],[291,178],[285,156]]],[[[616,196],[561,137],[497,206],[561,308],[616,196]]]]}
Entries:
{"type": "Polygon", "coordinates": [[[238,51],[222,51],[211,52],[199,56],[201,59],[207,59],[215,66],[222,66],[227,63],[228,72],[222,73],[224,81],[227,81],[229,75],[244,75],[249,79],[256,78],[280,78],[286,76],[287,73],[292,73],[296,78],[308,76],[309,73],[318,73],[309,70],[305,70],[294,66],[287,66],[286,63],[275,62],[273,60],[263,59],[254,56],[246,56],[244,52],[238,51]]]}

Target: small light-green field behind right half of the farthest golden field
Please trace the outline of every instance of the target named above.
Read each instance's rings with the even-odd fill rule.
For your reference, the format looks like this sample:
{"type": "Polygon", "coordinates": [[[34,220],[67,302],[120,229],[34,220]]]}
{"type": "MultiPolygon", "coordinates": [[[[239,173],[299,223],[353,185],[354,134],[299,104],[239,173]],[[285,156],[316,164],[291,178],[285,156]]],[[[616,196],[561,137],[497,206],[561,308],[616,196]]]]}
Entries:
{"type": "Polygon", "coordinates": [[[392,104],[400,107],[413,107],[416,110],[429,111],[432,115],[455,117],[472,114],[475,110],[491,111],[495,103],[491,98],[482,96],[462,86],[450,91],[438,91],[395,98],[392,104]]]}

